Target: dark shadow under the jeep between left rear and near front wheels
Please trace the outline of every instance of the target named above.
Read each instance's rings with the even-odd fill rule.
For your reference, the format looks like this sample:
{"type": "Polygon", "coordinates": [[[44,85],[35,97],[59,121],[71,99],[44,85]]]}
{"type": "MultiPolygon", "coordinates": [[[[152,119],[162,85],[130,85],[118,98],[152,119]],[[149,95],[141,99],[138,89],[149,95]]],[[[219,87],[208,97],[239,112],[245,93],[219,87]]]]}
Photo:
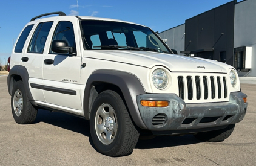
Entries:
{"type": "Polygon", "coordinates": [[[85,136],[90,136],[90,123],[83,118],[67,115],[65,113],[50,112],[48,110],[38,110],[38,115],[34,123],[44,122],[53,126],[61,127],[62,129],[71,130],[76,133],[81,133],[85,136]]]}

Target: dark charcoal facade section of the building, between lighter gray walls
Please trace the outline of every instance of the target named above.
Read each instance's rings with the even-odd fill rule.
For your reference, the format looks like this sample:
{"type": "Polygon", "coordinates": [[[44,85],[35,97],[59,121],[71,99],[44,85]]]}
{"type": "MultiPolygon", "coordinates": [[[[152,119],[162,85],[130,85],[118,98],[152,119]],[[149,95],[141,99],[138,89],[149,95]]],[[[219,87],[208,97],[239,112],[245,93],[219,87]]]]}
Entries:
{"type": "Polygon", "coordinates": [[[187,19],[184,51],[181,53],[233,66],[235,3],[231,1],[187,19]]]}

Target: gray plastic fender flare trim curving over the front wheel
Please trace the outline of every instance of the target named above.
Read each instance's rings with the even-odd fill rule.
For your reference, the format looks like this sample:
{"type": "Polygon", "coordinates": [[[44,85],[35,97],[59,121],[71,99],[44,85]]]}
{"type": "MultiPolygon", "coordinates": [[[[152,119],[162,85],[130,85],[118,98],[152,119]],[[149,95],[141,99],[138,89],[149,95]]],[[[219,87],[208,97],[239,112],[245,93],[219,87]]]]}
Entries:
{"type": "Polygon", "coordinates": [[[87,120],[90,119],[89,97],[90,91],[93,88],[93,83],[110,83],[118,86],[123,93],[130,115],[132,116],[135,124],[142,129],[147,129],[143,123],[143,120],[141,119],[138,105],[136,103],[136,96],[145,94],[146,91],[141,85],[140,80],[135,75],[109,69],[100,69],[94,71],[88,78],[86,89],[84,91],[84,116],[87,120]]]}

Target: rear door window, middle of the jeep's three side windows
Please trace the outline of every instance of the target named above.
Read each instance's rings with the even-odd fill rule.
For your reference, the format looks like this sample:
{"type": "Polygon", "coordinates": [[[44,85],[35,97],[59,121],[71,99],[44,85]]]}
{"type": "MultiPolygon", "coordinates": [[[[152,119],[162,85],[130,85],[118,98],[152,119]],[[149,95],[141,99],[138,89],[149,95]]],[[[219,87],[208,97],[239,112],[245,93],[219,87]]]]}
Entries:
{"type": "Polygon", "coordinates": [[[52,24],[53,22],[41,22],[38,24],[30,41],[28,53],[42,53],[44,51],[45,42],[52,24]]]}

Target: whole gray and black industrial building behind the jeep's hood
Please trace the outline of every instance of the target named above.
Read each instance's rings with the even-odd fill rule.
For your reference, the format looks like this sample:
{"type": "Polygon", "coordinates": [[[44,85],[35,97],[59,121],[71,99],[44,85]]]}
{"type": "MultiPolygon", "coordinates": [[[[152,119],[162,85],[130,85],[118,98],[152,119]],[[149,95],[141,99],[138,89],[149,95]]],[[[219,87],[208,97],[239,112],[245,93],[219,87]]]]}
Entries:
{"type": "Polygon", "coordinates": [[[255,0],[234,0],[158,35],[178,54],[217,60],[239,76],[256,77],[255,8],[255,0]]]}

